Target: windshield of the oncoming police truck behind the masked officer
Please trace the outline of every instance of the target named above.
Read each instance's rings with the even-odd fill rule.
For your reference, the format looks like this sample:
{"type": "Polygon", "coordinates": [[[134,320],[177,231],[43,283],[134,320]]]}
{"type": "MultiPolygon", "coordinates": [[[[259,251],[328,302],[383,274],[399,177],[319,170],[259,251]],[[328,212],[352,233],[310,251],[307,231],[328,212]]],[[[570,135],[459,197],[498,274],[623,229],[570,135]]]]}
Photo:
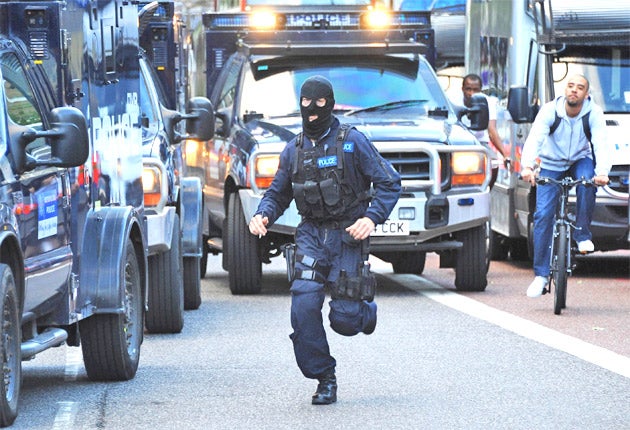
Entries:
{"type": "Polygon", "coordinates": [[[314,75],[324,76],[333,84],[337,114],[417,118],[435,109],[445,109],[447,102],[429,66],[424,62],[413,64],[417,67],[414,73],[385,70],[374,63],[282,71],[258,81],[247,69],[240,116],[299,115],[300,87],[314,75]]]}

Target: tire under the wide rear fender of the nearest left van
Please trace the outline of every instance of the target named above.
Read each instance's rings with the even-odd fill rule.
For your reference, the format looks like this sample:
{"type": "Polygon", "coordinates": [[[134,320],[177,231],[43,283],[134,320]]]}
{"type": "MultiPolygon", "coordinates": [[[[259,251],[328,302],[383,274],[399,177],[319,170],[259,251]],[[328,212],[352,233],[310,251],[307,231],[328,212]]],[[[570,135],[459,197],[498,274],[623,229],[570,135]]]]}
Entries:
{"type": "Polygon", "coordinates": [[[133,378],[140,361],[143,338],[143,300],[136,252],[127,240],[123,273],[124,312],[95,314],[79,322],[83,362],[94,381],[126,381],[133,378]]]}

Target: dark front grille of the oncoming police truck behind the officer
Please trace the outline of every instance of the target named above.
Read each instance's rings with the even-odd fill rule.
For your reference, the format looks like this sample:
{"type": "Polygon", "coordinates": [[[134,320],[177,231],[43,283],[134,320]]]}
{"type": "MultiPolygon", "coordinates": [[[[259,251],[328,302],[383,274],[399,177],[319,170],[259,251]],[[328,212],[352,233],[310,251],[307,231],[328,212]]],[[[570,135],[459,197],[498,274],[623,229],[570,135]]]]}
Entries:
{"type": "MultiPolygon", "coordinates": [[[[389,161],[400,174],[403,187],[405,181],[429,181],[431,180],[430,156],[426,152],[382,152],[381,155],[389,161]]],[[[449,154],[440,153],[440,168],[442,189],[448,187],[450,176],[448,174],[449,154]]]]}

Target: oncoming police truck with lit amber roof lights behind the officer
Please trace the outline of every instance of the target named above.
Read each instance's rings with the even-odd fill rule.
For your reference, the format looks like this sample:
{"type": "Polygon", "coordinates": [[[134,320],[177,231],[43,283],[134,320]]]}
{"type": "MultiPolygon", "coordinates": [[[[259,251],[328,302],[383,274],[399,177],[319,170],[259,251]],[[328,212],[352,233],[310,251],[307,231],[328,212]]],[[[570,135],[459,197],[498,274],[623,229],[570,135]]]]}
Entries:
{"type": "MultiPolygon", "coordinates": [[[[300,222],[295,205],[263,238],[248,221],[302,127],[299,89],[328,78],[334,114],[362,131],[402,177],[402,197],[379,226],[372,254],[398,273],[422,273],[427,252],[455,269],[460,290],[487,285],[488,153],[458,121],[435,75],[428,12],[321,6],[205,13],[193,42],[215,136],[198,148],[207,252],[222,252],[232,293],[260,291],[262,263],[280,255],[300,222]]],[[[200,79],[195,79],[197,82],[200,79]]],[[[487,126],[487,105],[471,116],[487,126]]],[[[187,153],[189,151],[187,150],[187,153]]],[[[193,152],[193,151],[190,151],[193,152]]],[[[192,158],[192,157],[191,157],[192,158]]]]}

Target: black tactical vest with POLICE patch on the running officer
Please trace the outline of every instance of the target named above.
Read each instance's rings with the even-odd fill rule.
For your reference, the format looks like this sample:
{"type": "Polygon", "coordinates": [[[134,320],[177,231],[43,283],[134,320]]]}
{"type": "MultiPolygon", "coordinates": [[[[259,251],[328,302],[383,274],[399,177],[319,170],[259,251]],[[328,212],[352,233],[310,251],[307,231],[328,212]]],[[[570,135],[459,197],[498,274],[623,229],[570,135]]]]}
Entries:
{"type": "Polygon", "coordinates": [[[328,221],[339,219],[349,209],[365,200],[367,193],[357,192],[344,177],[343,145],[351,127],[339,127],[335,146],[324,149],[315,145],[304,149],[301,133],[296,139],[293,163],[293,197],[302,217],[328,221]]]}

